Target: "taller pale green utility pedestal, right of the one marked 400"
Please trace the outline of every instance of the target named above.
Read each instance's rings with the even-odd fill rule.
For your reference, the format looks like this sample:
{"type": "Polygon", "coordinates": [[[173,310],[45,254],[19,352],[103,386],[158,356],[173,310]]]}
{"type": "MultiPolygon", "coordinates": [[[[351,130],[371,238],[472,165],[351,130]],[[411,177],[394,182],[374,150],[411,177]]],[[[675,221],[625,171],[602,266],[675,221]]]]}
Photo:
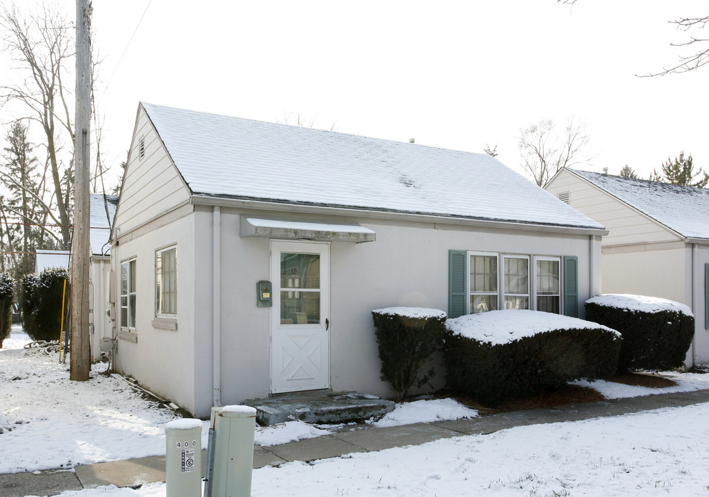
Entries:
{"type": "Polygon", "coordinates": [[[255,430],[255,408],[212,408],[204,497],[250,497],[255,430]]]}

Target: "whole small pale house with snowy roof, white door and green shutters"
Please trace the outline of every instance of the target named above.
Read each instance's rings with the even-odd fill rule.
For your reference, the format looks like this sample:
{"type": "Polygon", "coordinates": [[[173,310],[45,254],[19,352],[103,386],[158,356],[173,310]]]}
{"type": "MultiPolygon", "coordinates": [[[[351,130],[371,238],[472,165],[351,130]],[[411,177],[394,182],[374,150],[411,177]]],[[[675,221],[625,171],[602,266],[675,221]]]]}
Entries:
{"type": "Polygon", "coordinates": [[[116,367],[199,417],[392,396],[372,309],[583,315],[605,233],[490,155],[140,104],[111,235],[116,367]]]}

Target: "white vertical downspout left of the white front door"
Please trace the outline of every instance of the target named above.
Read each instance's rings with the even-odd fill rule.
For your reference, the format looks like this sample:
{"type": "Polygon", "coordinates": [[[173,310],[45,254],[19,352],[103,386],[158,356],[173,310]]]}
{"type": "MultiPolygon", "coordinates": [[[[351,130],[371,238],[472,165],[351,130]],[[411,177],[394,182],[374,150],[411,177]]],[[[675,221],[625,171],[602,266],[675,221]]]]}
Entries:
{"type": "Polygon", "coordinates": [[[212,405],[221,406],[221,290],[220,290],[220,242],[221,242],[221,213],[219,206],[212,208],[212,405]]]}

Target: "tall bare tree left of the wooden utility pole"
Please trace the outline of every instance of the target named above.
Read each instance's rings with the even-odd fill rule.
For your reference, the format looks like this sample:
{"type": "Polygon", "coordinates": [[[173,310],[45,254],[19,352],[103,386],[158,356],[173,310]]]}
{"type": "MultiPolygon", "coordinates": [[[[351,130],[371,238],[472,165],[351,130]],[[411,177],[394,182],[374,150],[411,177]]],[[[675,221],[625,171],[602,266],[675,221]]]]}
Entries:
{"type": "Polygon", "coordinates": [[[52,199],[38,199],[59,227],[62,245],[71,240],[71,189],[74,128],[72,95],[73,79],[67,67],[74,57],[74,28],[54,8],[44,5],[37,13],[23,15],[15,5],[0,11],[0,28],[5,49],[23,74],[17,84],[0,85],[1,104],[20,104],[31,122],[38,124],[44,135],[43,150],[52,185],[52,199]]]}

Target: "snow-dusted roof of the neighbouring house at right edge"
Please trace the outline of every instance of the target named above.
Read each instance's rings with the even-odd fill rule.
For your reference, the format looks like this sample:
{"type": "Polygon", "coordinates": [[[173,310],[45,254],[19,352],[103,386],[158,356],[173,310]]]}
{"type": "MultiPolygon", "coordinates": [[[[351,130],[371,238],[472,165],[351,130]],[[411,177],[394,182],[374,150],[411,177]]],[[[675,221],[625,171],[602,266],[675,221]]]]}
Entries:
{"type": "Polygon", "coordinates": [[[709,240],[709,190],[569,170],[683,237],[709,240]]]}

